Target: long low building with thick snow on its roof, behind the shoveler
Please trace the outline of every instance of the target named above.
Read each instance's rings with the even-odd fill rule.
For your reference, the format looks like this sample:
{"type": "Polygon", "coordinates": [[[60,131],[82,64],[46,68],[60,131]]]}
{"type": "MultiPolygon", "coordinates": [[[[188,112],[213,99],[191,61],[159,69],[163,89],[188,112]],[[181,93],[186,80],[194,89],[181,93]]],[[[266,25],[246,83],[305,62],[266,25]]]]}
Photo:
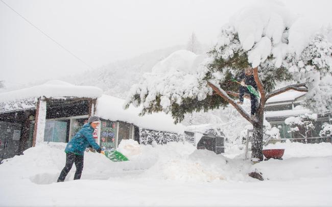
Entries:
{"type": "Polygon", "coordinates": [[[40,142],[68,142],[90,115],[101,118],[96,142],[116,149],[122,139],[148,144],[178,141],[183,125],[164,113],[139,116],[139,109],[123,109],[124,100],[97,87],[50,81],[31,88],[0,93],[0,159],[21,154],[40,142]]]}

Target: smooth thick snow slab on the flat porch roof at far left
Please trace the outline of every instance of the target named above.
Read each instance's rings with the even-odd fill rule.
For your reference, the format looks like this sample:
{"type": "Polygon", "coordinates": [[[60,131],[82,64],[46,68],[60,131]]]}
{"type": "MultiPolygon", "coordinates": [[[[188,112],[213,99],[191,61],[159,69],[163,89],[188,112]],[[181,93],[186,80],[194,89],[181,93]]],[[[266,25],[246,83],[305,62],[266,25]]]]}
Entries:
{"type": "Polygon", "coordinates": [[[0,93],[0,102],[29,99],[33,97],[86,97],[98,98],[103,91],[92,86],[75,86],[63,81],[49,81],[30,88],[0,93]]]}

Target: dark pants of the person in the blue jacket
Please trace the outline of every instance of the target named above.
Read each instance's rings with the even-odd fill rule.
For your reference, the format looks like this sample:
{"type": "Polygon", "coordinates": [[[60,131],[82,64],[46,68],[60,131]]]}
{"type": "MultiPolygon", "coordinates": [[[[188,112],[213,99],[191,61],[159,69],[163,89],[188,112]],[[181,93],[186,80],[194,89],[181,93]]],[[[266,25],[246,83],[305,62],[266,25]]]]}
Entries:
{"type": "Polygon", "coordinates": [[[83,170],[83,160],[84,160],[84,156],[79,156],[74,153],[66,153],[66,164],[60,173],[58,182],[63,182],[63,180],[66,178],[70,169],[72,169],[74,163],[76,166],[76,172],[74,175],[74,179],[80,179],[81,175],[82,175],[82,170],[83,170]]]}

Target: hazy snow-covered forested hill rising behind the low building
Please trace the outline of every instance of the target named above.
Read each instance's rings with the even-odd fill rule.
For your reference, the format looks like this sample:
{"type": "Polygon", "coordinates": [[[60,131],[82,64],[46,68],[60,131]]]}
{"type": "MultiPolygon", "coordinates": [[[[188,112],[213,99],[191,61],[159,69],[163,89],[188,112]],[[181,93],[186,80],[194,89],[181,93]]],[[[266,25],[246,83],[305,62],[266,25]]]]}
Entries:
{"type": "Polygon", "coordinates": [[[185,45],[154,50],[135,58],[110,63],[96,71],[87,70],[80,74],[60,77],[60,80],[81,86],[97,86],[105,94],[126,98],[130,87],[139,82],[141,75],[151,72],[152,67],[185,45]]]}

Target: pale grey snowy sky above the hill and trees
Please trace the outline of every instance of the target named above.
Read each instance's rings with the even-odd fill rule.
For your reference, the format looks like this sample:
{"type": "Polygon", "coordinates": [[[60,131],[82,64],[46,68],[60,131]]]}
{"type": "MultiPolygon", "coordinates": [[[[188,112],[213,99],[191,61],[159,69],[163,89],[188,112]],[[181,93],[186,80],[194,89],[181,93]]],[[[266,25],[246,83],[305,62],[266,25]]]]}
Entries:
{"type": "MultiPolygon", "coordinates": [[[[88,65],[177,44],[193,31],[216,41],[236,11],[257,1],[240,0],[2,0],[88,65]]],[[[332,1],[282,1],[292,12],[332,22],[332,1]]],[[[0,1],[0,80],[12,86],[40,78],[90,70],[0,1]]]]}

